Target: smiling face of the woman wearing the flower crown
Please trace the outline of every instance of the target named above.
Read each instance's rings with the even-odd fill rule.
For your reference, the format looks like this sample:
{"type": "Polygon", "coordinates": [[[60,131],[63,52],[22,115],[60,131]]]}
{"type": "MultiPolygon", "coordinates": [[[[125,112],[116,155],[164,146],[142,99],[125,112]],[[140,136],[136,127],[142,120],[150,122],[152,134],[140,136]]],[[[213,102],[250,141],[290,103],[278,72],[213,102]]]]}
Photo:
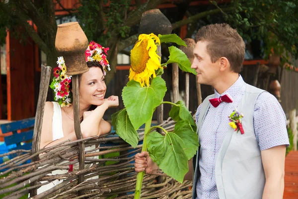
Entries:
{"type": "Polygon", "coordinates": [[[101,69],[90,67],[80,78],[79,102],[86,105],[101,105],[104,102],[106,89],[101,69]]]}

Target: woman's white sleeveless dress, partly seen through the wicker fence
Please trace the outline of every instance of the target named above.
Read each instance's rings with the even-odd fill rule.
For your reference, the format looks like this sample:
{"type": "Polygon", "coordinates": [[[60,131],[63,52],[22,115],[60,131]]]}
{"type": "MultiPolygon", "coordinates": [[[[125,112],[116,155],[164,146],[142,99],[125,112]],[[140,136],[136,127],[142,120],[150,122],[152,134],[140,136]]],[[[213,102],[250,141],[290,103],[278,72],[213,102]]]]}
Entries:
{"type": "MultiPolygon", "coordinates": [[[[63,134],[63,128],[62,128],[61,106],[56,101],[52,101],[52,102],[53,102],[53,105],[54,105],[54,107],[53,107],[53,122],[52,122],[52,129],[53,129],[52,133],[53,133],[53,141],[54,141],[54,140],[63,138],[64,134],[63,134]]],[[[95,145],[85,147],[85,151],[92,150],[92,149],[95,149],[95,145]]],[[[92,152],[99,152],[99,150],[97,149],[97,150],[92,151],[92,152]]],[[[93,157],[89,157],[89,158],[98,159],[98,156],[93,156],[93,157]]],[[[68,161],[64,161],[60,164],[67,163],[67,162],[68,161]]],[[[91,165],[92,164],[85,164],[85,168],[89,168],[91,165]]],[[[74,171],[75,170],[78,170],[78,163],[74,164],[74,171]]],[[[52,176],[52,175],[57,175],[57,174],[65,174],[65,173],[68,173],[68,170],[55,170],[51,174],[48,174],[47,176],[52,176]]],[[[92,180],[92,179],[98,179],[98,176],[89,178],[87,180],[92,180]]],[[[43,181],[41,183],[45,183],[45,182],[46,181],[43,181]]],[[[56,186],[56,185],[58,185],[62,182],[63,182],[63,180],[55,180],[55,181],[53,181],[53,182],[51,182],[47,185],[41,186],[37,190],[37,194],[43,193],[43,192],[53,188],[54,186],[56,186]]]]}

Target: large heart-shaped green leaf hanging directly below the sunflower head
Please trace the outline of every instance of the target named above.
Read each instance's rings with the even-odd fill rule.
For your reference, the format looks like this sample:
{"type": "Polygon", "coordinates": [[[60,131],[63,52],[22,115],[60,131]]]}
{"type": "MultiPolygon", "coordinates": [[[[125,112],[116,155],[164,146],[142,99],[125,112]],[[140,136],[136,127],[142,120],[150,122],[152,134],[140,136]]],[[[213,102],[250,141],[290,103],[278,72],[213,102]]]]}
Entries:
{"type": "Polygon", "coordinates": [[[141,87],[139,82],[131,80],[123,88],[123,103],[136,130],[151,118],[165,92],[165,81],[161,77],[153,78],[150,87],[141,87]]]}

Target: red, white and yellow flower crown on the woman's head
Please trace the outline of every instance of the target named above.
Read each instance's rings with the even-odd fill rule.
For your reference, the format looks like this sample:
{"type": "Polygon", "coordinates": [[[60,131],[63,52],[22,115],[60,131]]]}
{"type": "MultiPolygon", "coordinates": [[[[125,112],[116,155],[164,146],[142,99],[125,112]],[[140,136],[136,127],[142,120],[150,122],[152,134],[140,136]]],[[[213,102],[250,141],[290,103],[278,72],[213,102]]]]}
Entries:
{"type": "MultiPolygon", "coordinates": [[[[99,62],[103,69],[103,75],[110,71],[110,65],[107,58],[107,51],[109,48],[104,48],[98,43],[91,41],[85,51],[86,62],[95,61],[99,62]],[[104,54],[104,53],[105,54],[104,54]]],[[[58,101],[61,107],[69,106],[73,102],[73,93],[70,90],[70,83],[72,76],[66,75],[66,65],[63,57],[58,57],[58,67],[54,68],[54,78],[50,88],[54,90],[54,100],[58,101]]]]}

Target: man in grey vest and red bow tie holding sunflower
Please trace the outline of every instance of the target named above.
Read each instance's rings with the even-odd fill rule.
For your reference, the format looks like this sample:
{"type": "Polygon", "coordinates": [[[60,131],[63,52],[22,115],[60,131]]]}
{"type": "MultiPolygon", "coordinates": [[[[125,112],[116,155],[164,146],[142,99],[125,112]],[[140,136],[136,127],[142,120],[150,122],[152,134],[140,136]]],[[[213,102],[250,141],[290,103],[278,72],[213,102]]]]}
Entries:
{"type": "MultiPolygon", "coordinates": [[[[198,83],[213,86],[215,94],[196,112],[200,147],[184,177],[193,179],[193,199],[282,199],[289,139],[281,105],[239,75],[245,44],[235,29],[208,25],[195,39],[192,68],[198,83]],[[235,109],[244,116],[239,132],[229,125],[235,109]]],[[[137,172],[165,175],[148,152],[135,157],[137,172]]]]}

